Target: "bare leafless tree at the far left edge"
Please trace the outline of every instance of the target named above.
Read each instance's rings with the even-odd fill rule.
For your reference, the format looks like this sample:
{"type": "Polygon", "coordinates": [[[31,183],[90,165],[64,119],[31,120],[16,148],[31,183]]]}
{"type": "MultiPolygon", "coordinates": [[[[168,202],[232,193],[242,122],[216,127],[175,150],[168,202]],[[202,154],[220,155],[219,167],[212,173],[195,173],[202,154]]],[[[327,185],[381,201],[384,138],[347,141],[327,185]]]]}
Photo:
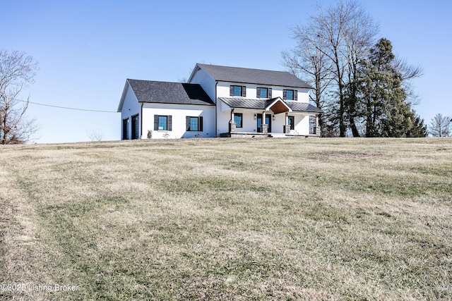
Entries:
{"type": "Polygon", "coordinates": [[[34,120],[25,117],[28,100],[18,99],[33,82],[37,62],[25,52],[0,50],[0,144],[27,142],[36,132],[34,120]]]}

